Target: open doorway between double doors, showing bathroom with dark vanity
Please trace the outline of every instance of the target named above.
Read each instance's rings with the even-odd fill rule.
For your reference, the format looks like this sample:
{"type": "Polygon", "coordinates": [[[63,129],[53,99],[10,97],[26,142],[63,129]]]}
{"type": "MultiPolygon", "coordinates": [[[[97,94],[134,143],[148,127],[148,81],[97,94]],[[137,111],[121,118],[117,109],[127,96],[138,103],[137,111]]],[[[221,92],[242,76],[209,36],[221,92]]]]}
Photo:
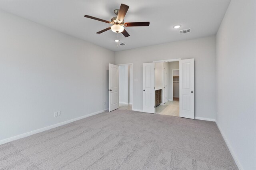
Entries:
{"type": "Polygon", "coordinates": [[[179,117],[179,61],[155,63],[155,79],[156,96],[162,94],[156,113],[179,117]]]}

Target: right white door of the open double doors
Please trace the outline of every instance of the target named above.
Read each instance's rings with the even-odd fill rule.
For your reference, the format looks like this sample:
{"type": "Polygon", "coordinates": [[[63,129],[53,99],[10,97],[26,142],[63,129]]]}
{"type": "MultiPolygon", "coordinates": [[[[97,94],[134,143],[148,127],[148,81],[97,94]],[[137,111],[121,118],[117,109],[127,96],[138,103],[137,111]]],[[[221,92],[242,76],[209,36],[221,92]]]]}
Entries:
{"type": "Polygon", "coordinates": [[[194,119],[194,59],[180,60],[180,117],[194,119]]]}

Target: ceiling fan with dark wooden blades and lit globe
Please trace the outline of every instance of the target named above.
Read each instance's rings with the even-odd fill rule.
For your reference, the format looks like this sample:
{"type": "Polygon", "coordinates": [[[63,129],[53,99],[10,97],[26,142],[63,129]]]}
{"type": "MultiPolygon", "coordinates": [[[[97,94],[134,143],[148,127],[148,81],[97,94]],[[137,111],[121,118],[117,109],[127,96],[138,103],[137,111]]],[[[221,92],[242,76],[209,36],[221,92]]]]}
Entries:
{"type": "Polygon", "coordinates": [[[96,18],[93,16],[88,16],[88,15],[85,15],[84,17],[91,18],[93,20],[98,20],[101,22],[106,22],[108,24],[112,24],[111,27],[108,27],[104,30],[96,32],[96,34],[101,34],[102,32],[105,32],[105,31],[108,31],[111,29],[113,32],[122,33],[125,37],[129,37],[130,34],[128,34],[128,32],[124,29],[124,26],[125,27],[149,26],[149,22],[126,22],[126,23],[124,23],[124,16],[125,16],[126,12],[128,11],[128,9],[129,9],[129,6],[127,6],[125,4],[121,4],[119,10],[118,9],[114,10],[114,13],[116,14],[116,16],[111,19],[111,22],[102,20],[100,18],[96,18]]]}

